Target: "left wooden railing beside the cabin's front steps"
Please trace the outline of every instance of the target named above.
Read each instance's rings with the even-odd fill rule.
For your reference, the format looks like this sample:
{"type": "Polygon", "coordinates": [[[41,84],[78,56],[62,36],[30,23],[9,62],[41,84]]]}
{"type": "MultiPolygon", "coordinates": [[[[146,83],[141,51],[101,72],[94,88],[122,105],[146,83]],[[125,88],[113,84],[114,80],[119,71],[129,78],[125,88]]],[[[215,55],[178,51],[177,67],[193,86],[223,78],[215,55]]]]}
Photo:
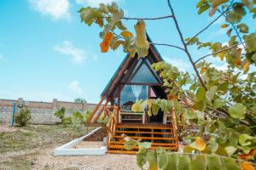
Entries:
{"type": "Polygon", "coordinates": [[[106,114],[109,119],[107,122],[107,145],[110,142],[110,139],[115,133],[115,126],[118,123],[119,116],[119,107],[118,106],[105,106],[104,114],[106,114]]]}

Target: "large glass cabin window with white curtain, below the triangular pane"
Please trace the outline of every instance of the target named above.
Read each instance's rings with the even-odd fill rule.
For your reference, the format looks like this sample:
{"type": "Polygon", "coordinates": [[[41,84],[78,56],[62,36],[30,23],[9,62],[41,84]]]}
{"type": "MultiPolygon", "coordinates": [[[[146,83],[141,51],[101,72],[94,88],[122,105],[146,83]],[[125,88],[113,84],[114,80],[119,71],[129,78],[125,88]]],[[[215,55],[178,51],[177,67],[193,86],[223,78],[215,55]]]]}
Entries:
{"type": "Polygon", "coordinates": [[[137,99],[148,99],[148,86],[143,85],[125,85],[120,94],[121,110],[131,111],[137,99]]]}

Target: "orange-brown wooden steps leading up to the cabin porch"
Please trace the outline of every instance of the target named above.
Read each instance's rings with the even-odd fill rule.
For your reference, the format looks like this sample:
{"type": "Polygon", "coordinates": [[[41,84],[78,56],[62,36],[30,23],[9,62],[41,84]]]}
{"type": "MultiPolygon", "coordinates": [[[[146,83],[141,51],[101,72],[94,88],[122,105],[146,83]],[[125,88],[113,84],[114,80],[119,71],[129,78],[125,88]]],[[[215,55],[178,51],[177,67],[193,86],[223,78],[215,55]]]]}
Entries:
{"type": "Polygon", "coordinates": [[[133,150],[125,150],[122,134],[131,139],[141,139],[142,142],[150,142],[152,150],[158,146],[165,150],[177,150],[177,131],[172,124],[128,124],[121,123],[115,126],[113,137],[108,144],[108,153],[136,154],[138,147],[133,150]]]}

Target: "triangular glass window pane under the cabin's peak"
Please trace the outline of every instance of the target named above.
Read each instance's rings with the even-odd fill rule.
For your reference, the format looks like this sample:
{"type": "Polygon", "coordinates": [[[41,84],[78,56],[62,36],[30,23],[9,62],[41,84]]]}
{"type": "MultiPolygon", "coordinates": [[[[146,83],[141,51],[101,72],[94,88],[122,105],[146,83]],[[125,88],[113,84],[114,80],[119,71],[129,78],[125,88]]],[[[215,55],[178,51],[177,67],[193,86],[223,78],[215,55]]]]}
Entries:
{"type": "Polygon", "coordinates": [[[152,72],[146,64],[143,64],[136,75],[132,78],[131,82],[145,82],[145,83],[158,83],[152,72]]]}

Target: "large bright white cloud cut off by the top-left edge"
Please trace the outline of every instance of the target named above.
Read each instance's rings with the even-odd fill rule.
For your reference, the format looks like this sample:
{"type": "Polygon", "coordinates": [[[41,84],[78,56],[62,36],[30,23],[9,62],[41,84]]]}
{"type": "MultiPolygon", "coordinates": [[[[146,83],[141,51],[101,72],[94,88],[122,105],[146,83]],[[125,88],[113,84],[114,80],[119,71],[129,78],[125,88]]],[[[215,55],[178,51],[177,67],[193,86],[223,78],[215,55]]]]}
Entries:
{"type": "Polygon", "coordinates": [[[68,0],[28,0],[31,7],[41,14],[49,15],[53,20],[70,20],[68,0]]]}

